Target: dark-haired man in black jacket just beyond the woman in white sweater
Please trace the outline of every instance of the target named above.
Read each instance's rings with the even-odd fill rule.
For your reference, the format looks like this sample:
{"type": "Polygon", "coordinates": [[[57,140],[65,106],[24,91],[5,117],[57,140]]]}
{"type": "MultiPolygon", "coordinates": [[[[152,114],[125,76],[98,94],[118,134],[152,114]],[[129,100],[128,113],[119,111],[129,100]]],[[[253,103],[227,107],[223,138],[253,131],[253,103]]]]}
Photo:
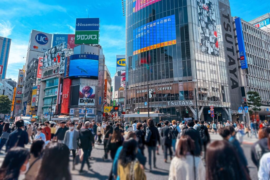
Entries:
{"type": "Polygon", "coordinates": [[[202,141],[201,141],[201,136],[199,131],[195,130],[193,128],[194,126],[194,122],[191,120],[187,121],[187,129],[184,129],[182,132],[182,136],[183,135],[189,135],[191,137],[191,139],[193,139],[193,141],[195,142],[195,151],[194,151],[194,155],[195,156],[200,156],[201,154],[201,149],[202,149],[202,141]]]}

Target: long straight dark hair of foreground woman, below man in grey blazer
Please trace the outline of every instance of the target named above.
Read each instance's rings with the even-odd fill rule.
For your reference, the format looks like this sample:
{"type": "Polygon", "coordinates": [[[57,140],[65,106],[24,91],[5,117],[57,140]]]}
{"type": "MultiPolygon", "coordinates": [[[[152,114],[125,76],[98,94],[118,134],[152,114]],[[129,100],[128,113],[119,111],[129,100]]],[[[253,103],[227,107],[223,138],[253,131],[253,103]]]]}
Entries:
{"type": "Polygon", "coordinates": [[[69,148],[59,142],[46,145],[36,180],[71,180],[69,172],[69,148]]]}

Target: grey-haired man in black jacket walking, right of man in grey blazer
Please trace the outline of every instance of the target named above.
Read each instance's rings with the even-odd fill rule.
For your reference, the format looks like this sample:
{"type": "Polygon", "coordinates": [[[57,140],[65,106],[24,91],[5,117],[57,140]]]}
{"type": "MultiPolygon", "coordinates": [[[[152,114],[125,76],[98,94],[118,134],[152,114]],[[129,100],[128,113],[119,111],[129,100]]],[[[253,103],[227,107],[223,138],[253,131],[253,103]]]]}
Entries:
{"type": "Polygon", "coordinates": [[[79,133],[79,139],[80,139],[80,147],[83,150],[83,161],[82,161],[82,166],[80,169],[80,173],[83,172],[83,166],[87,164],[88,169],[91,167],[88,161],[88,153],[89,151],[92,151],[92,145],[95,143],[94,140],[94,135],[92,132],[89,130],[90,122],[86,121],[85,122],[85,127],[80,129],[79,133]]]}

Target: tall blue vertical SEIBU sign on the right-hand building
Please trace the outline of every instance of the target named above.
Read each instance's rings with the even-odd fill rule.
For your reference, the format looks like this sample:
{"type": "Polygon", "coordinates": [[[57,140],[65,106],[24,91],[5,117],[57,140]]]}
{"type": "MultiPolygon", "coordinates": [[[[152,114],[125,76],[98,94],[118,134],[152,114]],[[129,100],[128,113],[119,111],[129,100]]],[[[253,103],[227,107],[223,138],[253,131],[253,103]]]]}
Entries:
{"type": "Polygon", "coordinates": [[[235,22],[235,29],[236,29],[236,35],[237,35],[241,69],[247,69],[248,63],[247,63],[246,49],[245,49],[245,43],[244,43],[244,37],[243,37],[243,31],[242,31],[241,18],[236,18],[234,22],[235,22]]]}

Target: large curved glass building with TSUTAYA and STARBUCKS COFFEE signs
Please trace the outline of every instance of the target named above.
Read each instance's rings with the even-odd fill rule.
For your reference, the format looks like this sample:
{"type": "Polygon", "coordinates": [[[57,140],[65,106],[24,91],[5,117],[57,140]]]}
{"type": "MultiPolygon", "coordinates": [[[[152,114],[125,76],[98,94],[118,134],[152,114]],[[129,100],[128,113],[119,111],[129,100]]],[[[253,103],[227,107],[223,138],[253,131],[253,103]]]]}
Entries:
{"type": "Polygon", "coordinates": [[[228,0],[126,3],[126,109],[147,112],[147,86],[156,94],[150,111],[164,120],[231,120],[241,104],[238,53],[228,0]],[[197,94],[195,94],[197,93],[197,94]],[[197,107],[196,108],[196,98],[197,107]],[[236,99],[231,103],[231,99],[236,99]],[[239,100],[238,100],[239,99],[239,100]],[[235,107],[233,107],[235,106],[235,107]]]}

